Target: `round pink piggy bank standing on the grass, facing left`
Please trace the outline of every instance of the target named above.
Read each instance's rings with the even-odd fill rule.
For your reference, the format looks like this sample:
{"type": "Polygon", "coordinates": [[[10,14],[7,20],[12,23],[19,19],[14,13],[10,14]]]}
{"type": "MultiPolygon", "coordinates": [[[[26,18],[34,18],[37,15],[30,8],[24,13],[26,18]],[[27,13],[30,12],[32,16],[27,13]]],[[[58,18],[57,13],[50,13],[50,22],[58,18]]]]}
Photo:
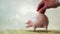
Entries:
{"type": "Polygon", "coordinates": [[[34,19],[29,20],[27,24],[28,27],[34,27],[34,31],[36,31],[36,28],[48,28],[48,18],[44,14],[38,14],[34,19]]]}

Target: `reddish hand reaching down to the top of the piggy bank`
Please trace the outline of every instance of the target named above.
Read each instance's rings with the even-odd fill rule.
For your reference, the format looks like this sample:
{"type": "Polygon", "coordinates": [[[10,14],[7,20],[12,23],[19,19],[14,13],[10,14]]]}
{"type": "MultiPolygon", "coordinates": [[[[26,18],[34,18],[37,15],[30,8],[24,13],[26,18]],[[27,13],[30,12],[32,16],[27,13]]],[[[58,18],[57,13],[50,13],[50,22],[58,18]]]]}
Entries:
{"type": "Polygon", "coordinates": [[[45,13],[46,9],[48,8],[56,8],[58,7],[59,3],[57,0],[42,0],[37,8],[39,13],[45,13]]]}

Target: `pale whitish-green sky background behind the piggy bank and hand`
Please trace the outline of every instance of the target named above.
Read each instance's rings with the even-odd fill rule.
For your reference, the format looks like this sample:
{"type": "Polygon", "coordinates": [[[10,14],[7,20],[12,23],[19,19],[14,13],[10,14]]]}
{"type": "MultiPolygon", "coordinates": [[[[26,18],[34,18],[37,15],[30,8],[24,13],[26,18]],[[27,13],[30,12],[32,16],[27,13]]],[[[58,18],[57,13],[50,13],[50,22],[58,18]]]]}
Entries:
{"type": "MultiPolygon", "coordinates": [[[[41,0],[0,0],[0,29],[24,29],[25,23],[34,17],[41,0]]],[[[60,28],[60,7],[46,10],[49,29],[60,28]]]]}

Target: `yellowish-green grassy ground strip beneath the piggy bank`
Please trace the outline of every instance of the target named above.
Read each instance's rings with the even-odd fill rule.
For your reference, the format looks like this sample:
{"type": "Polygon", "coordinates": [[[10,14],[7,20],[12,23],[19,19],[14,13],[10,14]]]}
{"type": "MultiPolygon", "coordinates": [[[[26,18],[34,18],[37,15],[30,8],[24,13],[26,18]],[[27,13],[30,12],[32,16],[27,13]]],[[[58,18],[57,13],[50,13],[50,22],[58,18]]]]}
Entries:
{"type": "Polygon", "coordinates": [[[60,34],[60,30],[48,30],[48,32],[44,30],[37,30],[33,32],[33,30],[0,30],[0,34],[60,34]]]}

